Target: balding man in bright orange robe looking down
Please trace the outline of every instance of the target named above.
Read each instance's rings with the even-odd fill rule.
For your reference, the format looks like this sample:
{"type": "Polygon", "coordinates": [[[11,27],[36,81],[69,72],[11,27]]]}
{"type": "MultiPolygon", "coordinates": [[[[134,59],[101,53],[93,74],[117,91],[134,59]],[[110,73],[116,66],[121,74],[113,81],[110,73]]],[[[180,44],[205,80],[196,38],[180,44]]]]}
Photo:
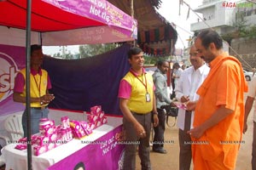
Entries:
{"type": "Polygon", "coordinates": [[[201,31],[195,47],[211,70],[197,91],[200,99],[187,105],[188,110],[195,109],[194,128],[188,132],[193,139],[194,169],[235,169],[247,92],[241,63],[224,53],[216,31],[201,31]]]}

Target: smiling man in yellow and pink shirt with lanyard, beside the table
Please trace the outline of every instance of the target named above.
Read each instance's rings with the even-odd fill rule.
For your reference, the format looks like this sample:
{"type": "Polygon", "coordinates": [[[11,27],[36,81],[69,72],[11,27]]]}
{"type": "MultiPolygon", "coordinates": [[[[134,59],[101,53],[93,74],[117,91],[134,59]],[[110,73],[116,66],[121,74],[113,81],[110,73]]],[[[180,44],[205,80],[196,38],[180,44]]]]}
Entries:
{"type": "Polygon", "coordinates": [[[128,52],[131,64],[130,71],[119,85],[119,107],[124,118],[125,129],[125,156],[124,170],[135,170],[136,150],[141,159],[143,170],[150,170],[149,137],[152,123],[158,125],[158,116],[155,105],[153,77],[143,68],[144,58],[141,48],[131,48],[128,52]]]}

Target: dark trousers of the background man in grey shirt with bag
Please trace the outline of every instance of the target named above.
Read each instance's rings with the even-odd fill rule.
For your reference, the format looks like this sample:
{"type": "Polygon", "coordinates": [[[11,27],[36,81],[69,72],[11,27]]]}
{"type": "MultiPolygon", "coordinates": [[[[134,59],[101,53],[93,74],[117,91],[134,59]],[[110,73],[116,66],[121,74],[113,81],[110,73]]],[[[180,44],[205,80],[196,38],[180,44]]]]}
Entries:
{"type": "Polygon", "coordinates": [[[161,109],[157,109],[159,124],[154,127],[154,139],[153,150],[157,150],[164,147],[164,133],[166,130],[166,112],[161,109]]]}

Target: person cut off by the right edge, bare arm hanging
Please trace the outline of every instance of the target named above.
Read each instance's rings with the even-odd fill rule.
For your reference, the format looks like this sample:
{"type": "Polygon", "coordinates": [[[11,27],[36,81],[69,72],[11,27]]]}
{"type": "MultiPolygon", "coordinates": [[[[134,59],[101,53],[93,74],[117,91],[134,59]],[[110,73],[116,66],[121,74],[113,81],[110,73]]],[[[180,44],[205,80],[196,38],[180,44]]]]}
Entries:
{"type": "MultiPolygon", "coordinates": [[[[245,104],[244,127],[243,133],[247,132],[247,117],[253,107],[253,101],[256,97],[256,77],[253,77],[252,82],[249,83],[249,92],[247,94],[247,101],[245,104]]],[[[252,169],[256,170],[256,105],[254,105],[253,113],[253,151],[252,151],[252,169]]]]}

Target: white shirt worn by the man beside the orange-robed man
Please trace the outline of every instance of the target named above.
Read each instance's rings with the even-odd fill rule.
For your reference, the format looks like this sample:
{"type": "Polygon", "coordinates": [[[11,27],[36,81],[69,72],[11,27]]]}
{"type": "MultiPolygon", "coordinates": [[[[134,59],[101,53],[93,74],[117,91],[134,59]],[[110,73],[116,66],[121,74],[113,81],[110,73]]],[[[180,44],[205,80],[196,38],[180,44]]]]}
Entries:
{"type": "MultiPolygon", "coordinates": [[[[202,65],[199,69],[195,70],[194,66],[190,66],[182,72],[181,77],[177,82],[175,87],[176,99],[181,101],[183,96],[189,96],[190,101],[195,101],[199,99],[199,95],[196,94],[197,89],[201,86],[201,83],[206,79],[210,68],[205,64],[202,65]]],[[[191,128],[194,121],[194,112],[192,111],[191,115],[191,128]]],[[[186,111],[183,109],[178,109],[177,114],[177,127],[184,129],[186,111]]]]}

